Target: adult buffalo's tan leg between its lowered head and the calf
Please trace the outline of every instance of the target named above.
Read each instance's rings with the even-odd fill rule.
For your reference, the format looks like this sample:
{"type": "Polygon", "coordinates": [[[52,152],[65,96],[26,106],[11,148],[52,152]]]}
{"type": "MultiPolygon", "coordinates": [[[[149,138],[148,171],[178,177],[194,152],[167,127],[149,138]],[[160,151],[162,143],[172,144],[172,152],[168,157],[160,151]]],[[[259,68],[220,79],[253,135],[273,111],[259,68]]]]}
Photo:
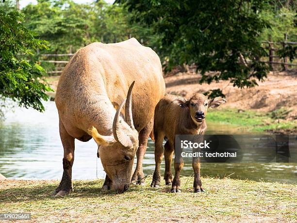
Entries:
{"type": "Polygon", "coordinates": [[[139,132],[139,136],[138,136],[139,147],[136,152],[137,164],[131,180],[131,183],[133,184],[145,185],[142,162],[143,162],[143,157],[147,151],[148,136],[152,130],[152,127],[153,127],[153,119],[150,120],[148,125],[139,132]]]}

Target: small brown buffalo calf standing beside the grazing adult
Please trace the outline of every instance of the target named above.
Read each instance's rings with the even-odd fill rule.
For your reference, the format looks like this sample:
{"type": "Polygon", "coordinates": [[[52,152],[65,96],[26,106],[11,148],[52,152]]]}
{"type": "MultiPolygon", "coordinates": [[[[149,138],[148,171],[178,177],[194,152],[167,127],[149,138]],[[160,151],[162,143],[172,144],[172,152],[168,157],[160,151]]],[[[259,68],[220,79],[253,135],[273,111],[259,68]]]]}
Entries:
{"type": "MultiPolygon", "coordinates": [[[[217,107],[226,103],[223,98],[216,97],[208,100],[203,94],[194,94],[189,100],[175,95],[165,95],[157,104],[154,115],[154,137],[155,137],[155,162],[156,168],[153,175],[151,187],[159,187],[160,184],[160,164],[163,158],[163,139],[167,138],[165,143],[165,174],[166,185],[172,183],[171,192],[180,192],[180,172],[183,167],[182,158],[180,162],[175,162],[175,176],[172,180],[171,160],[174,153],[175,135],[203,135],[206,131],[205,119],[198,120],[197,112],[207,114],[209,107],[217,107]]],[[[176,154],[177,159],[178,154],[176,154]]],[[[200,162],[193,159],[194,169],[194,189],[195,192],[202,190],[200,180],[200,162]]]]}

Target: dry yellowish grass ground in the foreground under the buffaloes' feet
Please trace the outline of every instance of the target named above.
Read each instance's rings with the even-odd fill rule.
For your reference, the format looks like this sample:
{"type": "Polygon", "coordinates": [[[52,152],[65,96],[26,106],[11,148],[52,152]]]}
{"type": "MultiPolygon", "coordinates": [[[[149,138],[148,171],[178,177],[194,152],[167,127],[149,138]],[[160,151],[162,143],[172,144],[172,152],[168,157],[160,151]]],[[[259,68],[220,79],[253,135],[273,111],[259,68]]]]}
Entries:
{"type": "Polygon", "coordinates": [[[297,185],[229,178],[203,178],[205,193],[193,193],[193,177],[182,192],[169,186],[132,185],[122,194],[104,192],[103,180],[74,181],[70,196],[52,198],[58,181],[0,182],[0,212],[31,212],[33,222],[296,222],[297,185]]]}

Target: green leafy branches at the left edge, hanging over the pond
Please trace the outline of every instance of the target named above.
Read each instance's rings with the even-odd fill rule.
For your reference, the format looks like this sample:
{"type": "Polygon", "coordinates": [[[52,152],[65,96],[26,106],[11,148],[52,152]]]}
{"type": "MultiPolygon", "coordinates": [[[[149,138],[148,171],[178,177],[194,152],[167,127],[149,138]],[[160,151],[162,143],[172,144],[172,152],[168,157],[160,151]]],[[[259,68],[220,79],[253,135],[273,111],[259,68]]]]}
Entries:
{"type": "Polygon", "coordinates": [[[0,9],[0,97],[43,111],[50,88],[39,81],[43,68],[26,57],[36,48],[46,48],[45,42],[25,27],[23,15],[0,9]]]}

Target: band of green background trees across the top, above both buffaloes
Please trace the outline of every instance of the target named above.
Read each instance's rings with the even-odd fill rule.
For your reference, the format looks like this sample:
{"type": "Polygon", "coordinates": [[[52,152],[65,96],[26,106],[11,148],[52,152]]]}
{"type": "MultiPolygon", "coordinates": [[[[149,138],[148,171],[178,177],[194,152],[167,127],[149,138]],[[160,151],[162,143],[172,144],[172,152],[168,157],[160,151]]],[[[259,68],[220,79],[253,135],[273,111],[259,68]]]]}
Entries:
{"type": "MultiPolygon", "coordinates": [[[[13,2],[6,0],[5,10],[11,10],[13,2]]],[[[66,53],[69,48],[75,52],[95,41],[136,37],[158,53],[165,71],[195,63],[201,82],[231,79],[238,87],[255,86],[266,76],[268,67],[260,62],[266,55],[261,40],[282,41],[285,32],[289,41],[297,38],[293,0],[116,0],[115,4],[38,0],[22,12],[26,27],[49,41],[49,49],[39,53],[66,53]]],[[[296,57],[296,48],[291,48],[280,51],[281,57],[296,57]]],[[[206,93],[222,95],[220,89],[206,93]]]]}

